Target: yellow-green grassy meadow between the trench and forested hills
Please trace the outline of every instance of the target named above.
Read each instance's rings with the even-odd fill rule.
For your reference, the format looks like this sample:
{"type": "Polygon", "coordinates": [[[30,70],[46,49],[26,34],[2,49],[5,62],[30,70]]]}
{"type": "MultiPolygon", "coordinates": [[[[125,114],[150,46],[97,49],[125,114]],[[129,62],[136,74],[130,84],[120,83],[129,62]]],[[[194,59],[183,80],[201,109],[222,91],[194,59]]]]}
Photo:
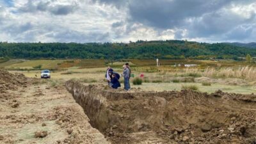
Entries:
{"type": "MultiPolygon", "coordinates": [[[[145,91],[197,90],[212,93],[216,90],[230,93],[255,93],[256,66],[237,61],[160,60],[9,60],[0,61],[0,67],[10,72],[19,72],[28,77],[40,78],[41,69],[51,69],[52,86],[68,79],[77,79],[87,84],[106,84],[104,75],[110,65],[122,73],[122,65],[131,63],[134,77],[141,78],[141,85],[132,88],[145,91]],[[175,67],[179,64],[194,64],[196,67],[175,67]],[[40,68],[37,66],[41,65],[40,68]]],[[[124,80],[121,78],[121,82],[124,80]]],[[[124,84],[122,84],[124,86],[124,84]]]]}

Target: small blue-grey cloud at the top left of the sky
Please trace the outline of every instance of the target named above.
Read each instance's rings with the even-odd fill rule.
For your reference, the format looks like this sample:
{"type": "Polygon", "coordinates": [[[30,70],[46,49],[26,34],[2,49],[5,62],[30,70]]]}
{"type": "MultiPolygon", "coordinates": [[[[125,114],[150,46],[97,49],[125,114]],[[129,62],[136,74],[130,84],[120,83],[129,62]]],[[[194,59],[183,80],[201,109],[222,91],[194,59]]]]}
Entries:
{"type": "Polygon", "coordinates": [[[39,3],[34,3],[32,0],[29,0],[28,3],[24,4],[19,10],[21,12],[49,12],[54,15],[68,15],[73,13],[77,4],[51,4],[52,1],[40,1],[39,3]]]}

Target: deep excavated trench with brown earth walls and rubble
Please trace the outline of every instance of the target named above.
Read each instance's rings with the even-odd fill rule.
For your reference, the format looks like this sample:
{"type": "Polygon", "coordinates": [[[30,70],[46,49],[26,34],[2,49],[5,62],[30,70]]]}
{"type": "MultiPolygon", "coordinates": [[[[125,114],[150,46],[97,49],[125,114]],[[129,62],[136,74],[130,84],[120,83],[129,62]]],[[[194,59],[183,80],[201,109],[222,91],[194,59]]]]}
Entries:
{"type": "Polygon", "coordinates": [[[65,85],[112,143],[256,143],[256,95],[65,85]]]}

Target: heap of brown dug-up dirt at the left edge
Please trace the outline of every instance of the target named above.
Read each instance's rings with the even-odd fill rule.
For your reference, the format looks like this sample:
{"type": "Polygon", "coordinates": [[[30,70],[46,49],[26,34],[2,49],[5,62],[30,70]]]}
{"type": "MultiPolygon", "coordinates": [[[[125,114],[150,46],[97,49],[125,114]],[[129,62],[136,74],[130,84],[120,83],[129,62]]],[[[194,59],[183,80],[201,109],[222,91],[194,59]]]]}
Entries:
{"type": "Polygon", "coordinates": [[[24,74],[10,74],[4,70],[0,70],[0,93],[6,90],[17,90],[19,86],[26,87],[28,78],[24,74]]]}

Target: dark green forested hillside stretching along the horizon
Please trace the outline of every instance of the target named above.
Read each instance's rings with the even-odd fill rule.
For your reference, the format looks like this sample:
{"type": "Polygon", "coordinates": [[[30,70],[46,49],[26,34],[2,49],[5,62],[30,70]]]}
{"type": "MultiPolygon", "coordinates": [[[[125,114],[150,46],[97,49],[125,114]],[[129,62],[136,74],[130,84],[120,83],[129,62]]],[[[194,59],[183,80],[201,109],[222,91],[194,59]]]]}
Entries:
{"type": "Polygon", "coordinates": [[[256,56],[256,49],[230,44],[207,44],[182,40],[138,41],[124,43],[0,43],[0,57],[121,59],[234,59],[246,54],[256,56]]]}

